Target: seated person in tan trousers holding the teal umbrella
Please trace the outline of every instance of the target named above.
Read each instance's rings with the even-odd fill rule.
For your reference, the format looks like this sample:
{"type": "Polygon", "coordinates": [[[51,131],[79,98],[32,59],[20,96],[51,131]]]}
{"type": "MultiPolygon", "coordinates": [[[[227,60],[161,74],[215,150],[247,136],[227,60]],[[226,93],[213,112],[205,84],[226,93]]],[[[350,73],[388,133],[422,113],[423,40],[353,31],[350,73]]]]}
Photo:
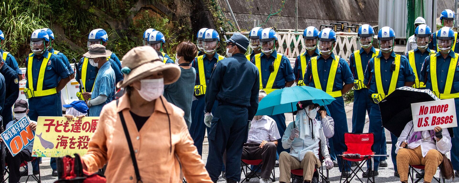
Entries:
{"type": "MultiPolygon", "coordinates": [[[[282,152],[279,156],[279,182],[290,183],[290,170],[303,169],[304,182],[317,182],[313,180],[316,167],[322,166],[319,160],[319,147],[325,157],[327,169],[333,168],[327,148],[327,138],[324,135],[322,123],[317,121],[316,115],[319,105],[311,100],[301,101],[297,104],[297,117],[290,123],[282,137],[284,149],[290,148],[290,153],[282,152]]],[[[324,118],[328,120],[328,118],[324,118]]]]}

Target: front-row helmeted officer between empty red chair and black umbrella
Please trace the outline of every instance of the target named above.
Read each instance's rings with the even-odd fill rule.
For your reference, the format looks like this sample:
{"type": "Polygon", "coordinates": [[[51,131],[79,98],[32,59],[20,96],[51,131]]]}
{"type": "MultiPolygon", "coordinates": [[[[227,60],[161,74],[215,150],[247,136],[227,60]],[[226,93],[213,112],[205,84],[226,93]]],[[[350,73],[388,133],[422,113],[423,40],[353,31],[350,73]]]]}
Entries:
{"type": "MultiPolygon", "coordinates": [[[[381,111],[377,103],[396,88],[412,86],[414,84],[414,73],[408,59],[404,55],[393,52],[393,48],[395,47],[395,32],[391,27],[382,27],[378,32],[378,40],[380,53],[378,56],[369,60],[367,70],[364,74],[364,83],[369,89],[369,97],[373,100],[369,113],[369,132],[374,133],[375,137],[373,151],[375,151],[376,155],[385,155],[386,133],[382,127],[381,111]]],[[[391,133],[391,139],[391,157],[395,170],[394,176],[398,176],[397,154],[395,154],[397,137],[391,133]]],[[[381,159],[381,156],[375,156],[373,170],[367,170],[363,173],[362,177],[378,176],[378,167],[381,159]]]]}

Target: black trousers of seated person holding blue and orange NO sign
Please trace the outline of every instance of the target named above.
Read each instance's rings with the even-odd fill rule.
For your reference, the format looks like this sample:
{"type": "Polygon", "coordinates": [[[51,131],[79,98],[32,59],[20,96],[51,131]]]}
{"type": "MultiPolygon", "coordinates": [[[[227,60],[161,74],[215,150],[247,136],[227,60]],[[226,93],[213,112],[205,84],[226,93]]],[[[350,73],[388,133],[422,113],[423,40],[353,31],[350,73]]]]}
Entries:
{"type": "Polygon", "coordinates": [[[12,156],[10,151],[6,151],[6,164],[8,164],[9,178],[8,183],[17,183],[21,179],[19,167],[24,161],[32,161],[32,155],[27,149],[22,150],[16,156],[12,156]]]}

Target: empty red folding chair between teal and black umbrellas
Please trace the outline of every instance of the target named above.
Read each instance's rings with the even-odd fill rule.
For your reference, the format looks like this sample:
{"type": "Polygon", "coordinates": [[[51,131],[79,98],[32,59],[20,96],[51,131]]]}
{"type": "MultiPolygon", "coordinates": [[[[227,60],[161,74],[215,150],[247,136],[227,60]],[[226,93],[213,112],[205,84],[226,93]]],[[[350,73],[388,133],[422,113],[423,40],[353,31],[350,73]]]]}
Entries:
{"type": "MultiPolygon", "coordinates": [[[[362,167],[366,165],[366,162],[369,161],[369,167],[372,167],[373,163],[373,156],[375,152],[373,151],[373,143],[374,143],[374,135],[373,133],[364,133],[364,134],[354,134],[354,133],[344,133],[344,144],[347,146],[347,150],[343,152],[342,155],[336,155],[341,158],[341,164],[345,165],[346,173],[345,178],[346,182],[349,183],[354,177],[357,177],[358,180],[363,183],[362,179],[360,179],[357,175],[357,172],[361,171],[364,172],[362,167]],[[349,158],[343,155],[345,154],[360,154],[361,156],[358,158],[349,158]],[[349,166],[346,161],[354,161],[357,162],[358,165],[354,169],[349,166]],[[360,161],[360,162],[359,162],[360,161]],[[348,169],[351,170],[351,178],[347,177],[348,169]]],[[[340,177],[340,183],[343,178],[343,174],[340,177]]],[[[375,183],[375,175],[372,174],[371,178],[367,178],[367,183],[375,183]]]]}

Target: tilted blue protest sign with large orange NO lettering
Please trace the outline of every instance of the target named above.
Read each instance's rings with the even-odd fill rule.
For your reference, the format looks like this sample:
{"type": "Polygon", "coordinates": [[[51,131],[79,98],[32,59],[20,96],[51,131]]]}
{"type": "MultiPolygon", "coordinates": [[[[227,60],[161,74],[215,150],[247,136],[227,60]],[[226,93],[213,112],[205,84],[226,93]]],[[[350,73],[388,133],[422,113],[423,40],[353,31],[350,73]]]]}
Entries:
{"type": "Polygon", "coordinates": [[[30,119],[25,116],[1,133],[3,142],[12,156],[16,156],[34,141],[35,132],[30,129],[29,124],[30,119]]]}

